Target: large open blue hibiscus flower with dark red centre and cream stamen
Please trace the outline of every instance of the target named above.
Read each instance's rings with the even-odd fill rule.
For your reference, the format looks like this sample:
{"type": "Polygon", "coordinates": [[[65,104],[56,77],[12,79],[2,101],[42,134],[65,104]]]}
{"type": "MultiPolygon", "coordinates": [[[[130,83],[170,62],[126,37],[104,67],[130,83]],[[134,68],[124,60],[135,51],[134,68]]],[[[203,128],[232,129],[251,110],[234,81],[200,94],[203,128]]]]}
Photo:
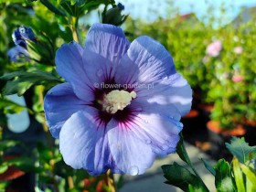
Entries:
{"type": "Polygon", "coordinates": [[[192,91],[160,43],[130,43],[120,27],[95,24],[85,48],[59,48],[56,65],[67,82],[48,91],[44,109],[66,164],[138,175],[155,156],[176,152],[192,91]]]}

